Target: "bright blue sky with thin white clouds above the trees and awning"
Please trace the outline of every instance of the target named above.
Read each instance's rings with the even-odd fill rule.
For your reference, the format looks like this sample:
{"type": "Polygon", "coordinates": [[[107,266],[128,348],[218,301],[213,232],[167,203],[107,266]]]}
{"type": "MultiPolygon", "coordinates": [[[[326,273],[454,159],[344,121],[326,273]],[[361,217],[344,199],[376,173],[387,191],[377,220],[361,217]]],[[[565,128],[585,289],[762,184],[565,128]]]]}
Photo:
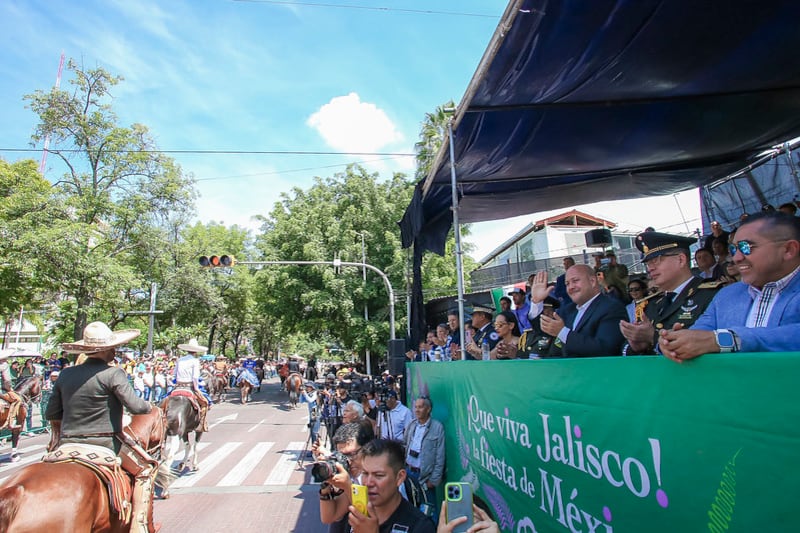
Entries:
{"type": "MultiPolygon", "coordinates": [[[[314,4],[4,0],[0,157],[39,160],[40,153],[3,150],[29,147],[36,117],[22,97],[53,85],[62,52],[125,78],[113,90],[120,124],[145,124],[163,150],[411,153],[425,113],[460,100],[506,6],[505,0],[314,4]]],[[[280,192],[308,187],[314,176],[331,176],[349,162],[382,177],[413,173],[412,157],[174,157],[197,179],[201,221],[249,228],[280,192]]],[[[61,172],[48,159],[46,176],[61,172]]],[[[696,196],[679,196],[691,229],[699,224],[696,196]]],[[[674,198],[656,207],[631,202],[586,210],[633,229],[684,230],[674,198]]],[[[539,215],[473,225],[479,246],[473,255],[479,259],[531,218],[539,215]]]]}

